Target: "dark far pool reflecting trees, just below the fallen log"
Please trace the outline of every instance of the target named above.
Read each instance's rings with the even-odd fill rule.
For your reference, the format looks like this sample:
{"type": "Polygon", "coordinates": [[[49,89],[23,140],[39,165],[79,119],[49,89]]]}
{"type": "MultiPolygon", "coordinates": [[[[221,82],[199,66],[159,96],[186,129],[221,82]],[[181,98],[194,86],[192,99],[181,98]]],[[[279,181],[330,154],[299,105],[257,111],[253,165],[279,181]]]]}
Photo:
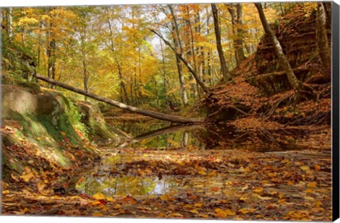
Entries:
{"type": "Polygon", "coordinates": [[[297,130],[238,130],[232,125],[147,125],[129,123],[125,131],[137,135],[118,147],[128,145],[148,149],[249,149],[252,151],[283,151],[296,149],[297,137],[303,132],[297,130]],[[147,131],[149,130],[149,131],[147,131]],[[151,131],[150,131],[151,130],[151,131]],[[138,132],[143,132],[138,135],[138,132]],[[145,133],[146,132],[146,133],[145,133]]]}

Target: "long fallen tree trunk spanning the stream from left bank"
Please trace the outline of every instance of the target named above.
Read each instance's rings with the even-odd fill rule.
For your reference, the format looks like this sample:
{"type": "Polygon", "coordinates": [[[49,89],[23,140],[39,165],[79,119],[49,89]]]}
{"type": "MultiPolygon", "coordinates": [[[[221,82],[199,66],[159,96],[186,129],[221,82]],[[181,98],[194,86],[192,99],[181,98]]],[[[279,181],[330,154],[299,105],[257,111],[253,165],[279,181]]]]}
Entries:
{"type": "Polygon", "coordinates": [[[191,124],[191,123],[204,122],[203,120],[198,120],[198,119],[194,119],[194,118],[184,118],[184,117],[177,116],[177,115],[167,115],[167,114],[158,113],[158,112],[155,112],[155,111],[152,111],[152,110],[145,110],[145,109],[142,109],[142,108],[136,108],[136,107],[133,107],[131,105],[126,105],[124,103],[114,101],[110,98],[104,98],[104,97],[98,96],[94,93],[86,92],[86,91],[81,90],[79,88],[69,86],[68,84],[63,84],[63,83],[56,81],[54,79],[50,79],[46,76],[40,76],[39,74],[36,74],[35,77],[37,79],[40,79],[40,80],[45,81],[47,83],[54,84],[56,86],[60,86],[62,88],[65,88],[69,91],[73,91],[73,92],[76,92],[76,93],[80,93],[81,95],[88,96],[89,98],[93,98],[97,101],[101,101],[101,102],[104,102],[104,103],[108,103],[109,105],[113,105],[115,107],[118,107],[118,108],[129,110],[132,113],[138,113],[140,115],[149,116],[149,117],[156,118],[156,119],[159,119],[159,120],[164,120],[164,121],[169,121],[169,122],[177,122],[177,123],[181,123],[181,124],[191,124]]]}

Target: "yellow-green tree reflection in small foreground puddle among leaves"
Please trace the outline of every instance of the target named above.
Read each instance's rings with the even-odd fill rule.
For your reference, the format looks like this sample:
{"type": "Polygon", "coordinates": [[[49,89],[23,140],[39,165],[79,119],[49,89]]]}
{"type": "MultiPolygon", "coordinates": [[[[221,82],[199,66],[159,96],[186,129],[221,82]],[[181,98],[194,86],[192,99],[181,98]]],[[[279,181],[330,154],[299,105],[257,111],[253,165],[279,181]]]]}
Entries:
{"type": "Polygon", "coordinates": [[[156,182],[152,178],[136,176],[102,177],[88,176],[77,185],[77,190],[94,195],[103,193],[106,196],[113,195],[148,195],[154,190],[156,182]]]}

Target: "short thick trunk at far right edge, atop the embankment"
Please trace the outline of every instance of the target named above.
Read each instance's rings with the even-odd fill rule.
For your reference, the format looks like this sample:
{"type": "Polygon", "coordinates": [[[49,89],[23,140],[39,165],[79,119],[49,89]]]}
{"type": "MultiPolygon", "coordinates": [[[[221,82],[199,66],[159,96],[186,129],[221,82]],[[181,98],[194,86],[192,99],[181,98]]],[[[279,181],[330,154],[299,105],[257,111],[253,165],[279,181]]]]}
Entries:
{"type": "Polygon", "coordinates": [[[326,11],[322,2],[317,3],[317,48],[322,66],[327,72],[327,79],[331,79],[331,50],[329,48],[326,30],[326,11]]]}

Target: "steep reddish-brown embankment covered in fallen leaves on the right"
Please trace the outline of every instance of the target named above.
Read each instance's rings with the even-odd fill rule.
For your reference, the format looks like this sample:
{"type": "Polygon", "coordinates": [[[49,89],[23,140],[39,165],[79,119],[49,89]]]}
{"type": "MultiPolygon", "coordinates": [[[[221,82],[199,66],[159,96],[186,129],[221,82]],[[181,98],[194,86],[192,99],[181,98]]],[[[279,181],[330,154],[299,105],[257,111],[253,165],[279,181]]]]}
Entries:
{"type": "MultiPolygon", "coordinates": [[[[330,11],[327,15],[329,20],[330,11]]],[[[315,23],[316,11],[298,5],[272,27],[295,75],[314,88],[316,99],[294,103],[294,91],[278,64],[273,45],[264,35],[257,51],[234,69],[234,81],[212,88],[198,108],[215,122],[257,118],[276,122],[277,127],[330,125],[330,72],[322,69],[315,23]]],[[[330,27],[328,32],[330,40],[330,27]]]]}

